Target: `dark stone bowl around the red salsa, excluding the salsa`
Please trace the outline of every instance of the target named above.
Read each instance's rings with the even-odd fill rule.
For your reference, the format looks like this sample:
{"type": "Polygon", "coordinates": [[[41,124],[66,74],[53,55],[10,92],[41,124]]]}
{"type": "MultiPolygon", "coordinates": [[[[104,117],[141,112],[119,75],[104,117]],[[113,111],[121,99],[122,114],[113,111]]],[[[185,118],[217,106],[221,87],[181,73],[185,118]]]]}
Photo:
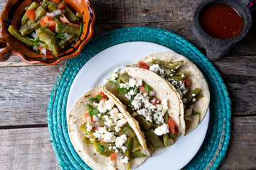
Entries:
{"type": "Polygon", "coordinates": [[[192,32],[196,40],[201,42],[201,45],[206,49],[208,59],[213,61],[223,57],[248,33],[250,26],[252,25],[252,16],[247,8],[247,3],[249,3],[248,0],[205,0],[198,5],[193,16],[192,32]],[[245,21],[245,25],[241,33],[230,39],[213,38],[212,36],[208,35],[203,28],[201,28],[199,23],[199,15],[202,9],[209,4],[225,4],[233,7],[245,21]]]}

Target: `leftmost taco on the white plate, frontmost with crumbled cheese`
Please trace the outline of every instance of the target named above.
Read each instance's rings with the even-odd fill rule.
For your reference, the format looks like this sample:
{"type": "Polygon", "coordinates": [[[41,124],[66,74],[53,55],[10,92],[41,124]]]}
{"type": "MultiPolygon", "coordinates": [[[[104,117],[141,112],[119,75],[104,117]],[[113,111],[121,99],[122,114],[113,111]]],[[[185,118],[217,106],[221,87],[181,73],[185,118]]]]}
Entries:
{"type": "Polygon", "coordinates": [[[142,132],[124,108],[97,86],[87,91],[68,116],[73,147],[92,169],[134,169],[149,157],[142,132]]]}

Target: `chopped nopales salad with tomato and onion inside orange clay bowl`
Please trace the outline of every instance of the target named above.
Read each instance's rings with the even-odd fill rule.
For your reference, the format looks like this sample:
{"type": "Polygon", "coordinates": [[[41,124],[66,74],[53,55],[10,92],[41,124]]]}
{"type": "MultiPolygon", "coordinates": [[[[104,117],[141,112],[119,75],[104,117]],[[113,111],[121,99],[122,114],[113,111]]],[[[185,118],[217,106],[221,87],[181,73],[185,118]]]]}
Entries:
{"type": "Polygon", "coordinates": [[[82,14],[72,11],[64,1],[33,1],[18,27],[9,33],[42,55],[59,55],[75,45],[82,34],[82,14]]]}

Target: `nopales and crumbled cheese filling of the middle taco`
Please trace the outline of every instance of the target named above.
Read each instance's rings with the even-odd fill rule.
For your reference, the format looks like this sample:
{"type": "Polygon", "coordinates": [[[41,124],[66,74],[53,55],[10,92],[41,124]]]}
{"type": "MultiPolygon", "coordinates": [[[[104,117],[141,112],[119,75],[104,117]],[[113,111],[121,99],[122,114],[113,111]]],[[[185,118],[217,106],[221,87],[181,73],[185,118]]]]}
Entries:
{"type": "Polygon", "coordinates": [[[167,99],[160,101],[156,98],[156,91],[142,79],[130,77],[127,72],[112,73],[110,84],[127,112],[139,122],[149,149],[161,149],[174,143],[178,128],[167,112],[167,99]]]}

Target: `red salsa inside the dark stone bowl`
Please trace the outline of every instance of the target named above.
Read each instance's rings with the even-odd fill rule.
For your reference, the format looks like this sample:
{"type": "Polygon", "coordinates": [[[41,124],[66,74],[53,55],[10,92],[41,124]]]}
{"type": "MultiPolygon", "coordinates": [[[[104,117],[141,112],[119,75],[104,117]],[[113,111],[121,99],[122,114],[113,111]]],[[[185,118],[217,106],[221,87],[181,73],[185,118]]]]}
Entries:
{"type": "Polygon", "coordinates": [[[211,4],[199,16],[203,30],[214,38],[228,39],[240,34],[244,21],[234,8],[224,4],[211,4]]]}

